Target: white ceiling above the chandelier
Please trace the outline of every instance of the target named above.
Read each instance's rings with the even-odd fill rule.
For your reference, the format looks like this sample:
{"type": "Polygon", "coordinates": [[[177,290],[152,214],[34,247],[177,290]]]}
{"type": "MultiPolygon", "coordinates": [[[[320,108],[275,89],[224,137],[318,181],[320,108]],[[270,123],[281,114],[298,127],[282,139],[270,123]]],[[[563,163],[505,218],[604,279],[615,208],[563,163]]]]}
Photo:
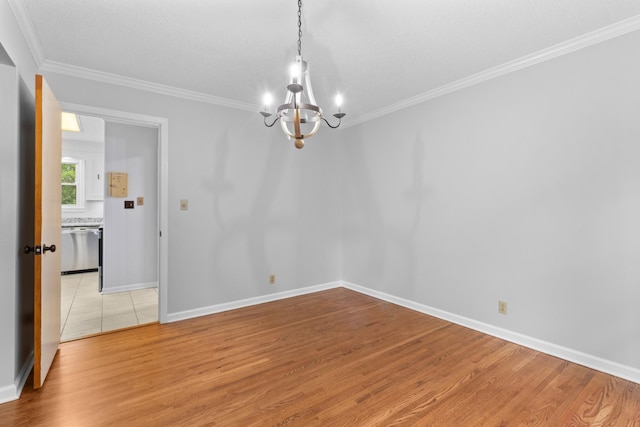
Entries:
{"type": "MultiPolygon", "coordinates": [[[[32,25],[45,70],[142,80],[239,108],[259,108],[266,90],[284,97],[296,54],[296,0],[10,1],[32,25]]],[[[347,123],[639,23],[638,0],[306,0],[302,54],[326,113],[344,94],[347,123]]]]}

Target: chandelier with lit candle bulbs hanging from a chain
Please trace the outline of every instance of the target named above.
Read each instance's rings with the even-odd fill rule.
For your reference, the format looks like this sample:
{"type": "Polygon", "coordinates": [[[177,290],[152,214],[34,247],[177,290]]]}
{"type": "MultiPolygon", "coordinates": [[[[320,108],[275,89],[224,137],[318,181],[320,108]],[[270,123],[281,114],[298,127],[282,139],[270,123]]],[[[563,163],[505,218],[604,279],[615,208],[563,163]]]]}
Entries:
{"type": "Polygon", "coordinates": [[[322,108],[316,103],[311,88],[311,77],[309,76],[309,65],[302,59],[302,0],[298,0],[298,55],[289,69],[290,78],[287,85],[287,95],[284,104],[280,105],[275,112],[273,122],[267,123],[267,119],[273,116],[268,111],[271,104],[271,95],[266,94],[264,98],[264,110],[260,112],[264,117],[264,125],[272,127],[276,122],[280,122],[282,131],[293,139],[296,148],[304,147],[304,140],[309,138],[320,129],[324,121],[330,128],[336,129],[340,126],[345,113],[340,111],[342,96],[336,95],[338,112],[333,115],[338,119],[337,125],[332,125],[322,116],[322,108]]]}

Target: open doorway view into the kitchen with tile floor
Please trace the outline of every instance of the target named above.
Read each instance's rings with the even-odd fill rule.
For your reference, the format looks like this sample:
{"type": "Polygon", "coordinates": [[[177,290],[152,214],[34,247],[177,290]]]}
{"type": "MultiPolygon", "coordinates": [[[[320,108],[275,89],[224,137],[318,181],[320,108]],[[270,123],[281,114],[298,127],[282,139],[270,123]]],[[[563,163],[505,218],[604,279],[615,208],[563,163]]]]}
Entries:
{"type": "Polygon", "coordinates": [[[157,322],[158,131],[65,114],[61,341],[157,322]]]}

